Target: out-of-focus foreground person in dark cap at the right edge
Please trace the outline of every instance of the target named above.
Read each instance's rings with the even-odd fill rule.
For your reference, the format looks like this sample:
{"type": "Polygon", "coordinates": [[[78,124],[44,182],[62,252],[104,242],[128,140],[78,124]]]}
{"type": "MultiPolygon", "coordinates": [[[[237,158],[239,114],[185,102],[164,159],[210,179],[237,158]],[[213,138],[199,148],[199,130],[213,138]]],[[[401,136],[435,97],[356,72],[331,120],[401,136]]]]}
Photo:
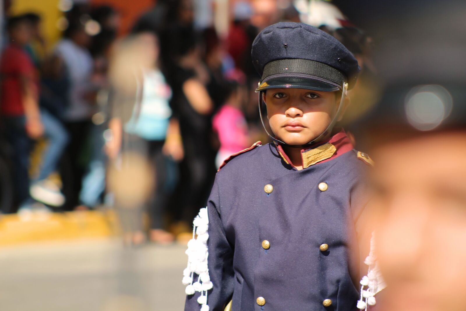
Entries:
{"type": "Polygon", "coordinates": [[[397,14],[379,33],[385,91],[365,131],[387,285],[377,310],[466,308],[465,8],[399,9],[409,18],[397,14]]]}

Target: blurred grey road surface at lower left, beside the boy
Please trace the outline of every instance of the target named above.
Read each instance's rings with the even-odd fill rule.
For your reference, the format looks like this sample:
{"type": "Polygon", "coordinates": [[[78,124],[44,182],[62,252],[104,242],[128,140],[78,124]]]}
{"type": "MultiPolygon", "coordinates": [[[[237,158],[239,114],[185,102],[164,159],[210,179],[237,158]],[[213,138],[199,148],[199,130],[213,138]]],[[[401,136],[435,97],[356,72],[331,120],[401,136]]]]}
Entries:
{"type": "Polygon", "coordinates": [[[2,311],[180,311],[180,245],[123,248],[119,240],[0,248],[2,311]]]}

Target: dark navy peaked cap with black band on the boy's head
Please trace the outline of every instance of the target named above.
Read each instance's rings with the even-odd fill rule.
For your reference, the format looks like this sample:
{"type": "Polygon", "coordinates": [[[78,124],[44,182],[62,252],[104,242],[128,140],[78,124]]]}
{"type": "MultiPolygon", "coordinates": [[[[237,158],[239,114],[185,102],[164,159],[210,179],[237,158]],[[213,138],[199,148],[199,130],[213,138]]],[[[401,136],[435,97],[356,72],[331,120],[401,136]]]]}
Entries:
{"type": "Polygon", "coordinates": [[[336,91],[356,83],[356,58],[336,38],[303,23],[280,22],[260,32],[251,51],[261,76],[256,91],[301,88],[336,91]]]}

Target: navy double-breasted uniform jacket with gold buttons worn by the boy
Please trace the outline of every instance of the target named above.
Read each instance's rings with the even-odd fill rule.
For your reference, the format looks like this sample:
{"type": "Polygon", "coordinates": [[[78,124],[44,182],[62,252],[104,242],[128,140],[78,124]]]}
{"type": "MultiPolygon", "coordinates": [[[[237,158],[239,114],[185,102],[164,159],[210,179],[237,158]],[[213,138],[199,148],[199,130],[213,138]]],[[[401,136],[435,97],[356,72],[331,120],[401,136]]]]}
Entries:
{"type": "MultiPolygon", "coordinates": [[[[329,143],[336,148],[329,159],[299,171],[275,144],[239,154],[219,170],[207,205],[210,311],[223,311],[231,299],[233,311],[356,309],[359,277],[367,272],[360,273],[357,235],[369,166],[344,131],[329,143]],[[322,304],[326,299],[331,305],[322,304]]],[[[187,296],[185,311],[199,311],[197,297],[187,296]]]]}

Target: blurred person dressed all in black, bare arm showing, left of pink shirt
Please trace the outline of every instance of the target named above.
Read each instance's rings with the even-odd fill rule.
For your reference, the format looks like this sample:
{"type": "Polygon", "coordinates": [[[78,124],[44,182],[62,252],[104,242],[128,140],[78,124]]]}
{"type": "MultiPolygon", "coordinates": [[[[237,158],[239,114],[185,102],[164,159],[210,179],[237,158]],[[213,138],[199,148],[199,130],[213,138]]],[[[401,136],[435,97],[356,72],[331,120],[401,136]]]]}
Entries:
{"type": "Polygon", "coordinates": [[[189,224],[197,210],[206,204],[215,174],[211,147],[214,103],[202,80],[205,75],[199,76],[199,70],[196,71],[202,62],[197,36],[192,28],[177,28],[171,32],[171,48],[176,51],[172,55],[175,67],[169,79],[173,90],[171,107],[179,120],[184,149],[173,210],[179,228],[174,231],[189,232],[189,224]]]}

